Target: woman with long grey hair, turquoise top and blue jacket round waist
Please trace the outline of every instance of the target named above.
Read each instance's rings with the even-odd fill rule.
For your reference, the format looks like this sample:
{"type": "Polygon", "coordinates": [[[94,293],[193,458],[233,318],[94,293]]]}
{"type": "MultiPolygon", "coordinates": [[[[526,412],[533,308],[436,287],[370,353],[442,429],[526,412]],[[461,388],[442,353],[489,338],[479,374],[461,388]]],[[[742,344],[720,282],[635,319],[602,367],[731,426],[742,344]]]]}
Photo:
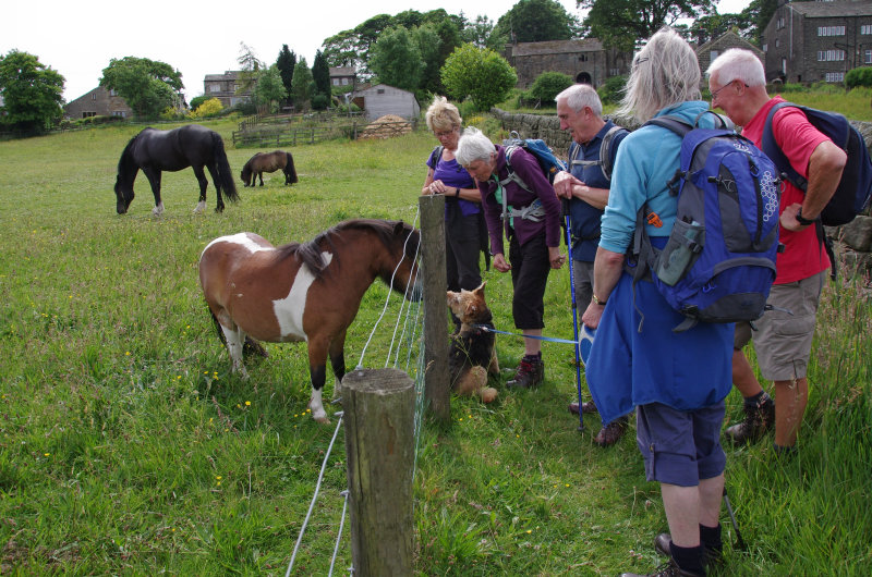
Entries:
{"type": "MultiPolygon", "coordinates": [[[[619,114],[642,122],[669,115],[714,127],[714,116],[703,114],[708,106],[699,85],[693,49],[664,28],[633,58],[619,114]]],[[[588,327],[598,328],[586,378],[603,421],[637,407],[645,476],[661,483],[671,535],[655,539],[655,549],[669,562],[654,575],[705,575],[705,563],[722,550],[726,456],[719,435],[731,386],[732,324],[700,322],[673,332],[683,317],[651,282],[633,284],[625,271],[640,210],[643,218],[659,217],[641,221],[651,243],[661,248],[666,243],[677,210],[667,182],[679,167],[680,149],[681,138],[656,125],[643,125],[618,148],[594,261],[593,299],[582,316],[588,327]]]]}

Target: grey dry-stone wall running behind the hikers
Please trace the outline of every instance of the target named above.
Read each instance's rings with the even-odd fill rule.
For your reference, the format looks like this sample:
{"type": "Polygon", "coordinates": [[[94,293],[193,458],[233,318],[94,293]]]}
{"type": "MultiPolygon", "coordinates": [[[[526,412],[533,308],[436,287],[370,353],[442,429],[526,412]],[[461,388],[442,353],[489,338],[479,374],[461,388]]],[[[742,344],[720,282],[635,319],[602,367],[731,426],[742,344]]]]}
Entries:
{"type": "MultiPolygon", "coordinates": [[[[554,151],[566,157],[569,150],[569,134],[560,130],[556,115],[511,114],[494,109],[493,114],[500,121],[506,132],[517,131],[522,138],[542,138],[554,151]]],[[[606,116],[607,118],[607,116],[606,116]]],[[[638,123],[627,119],[613,119],[616,124],[634,130],[638,123]]],[[[872,144],[872,122],[851,121],[865,139],[867,147],[872,144]]],[[[872,207],[845,226],[827,228],[826,234],[834,241],[836,255],[847,274],[861,275],[867,283],[872,278],[872,207]]]]}

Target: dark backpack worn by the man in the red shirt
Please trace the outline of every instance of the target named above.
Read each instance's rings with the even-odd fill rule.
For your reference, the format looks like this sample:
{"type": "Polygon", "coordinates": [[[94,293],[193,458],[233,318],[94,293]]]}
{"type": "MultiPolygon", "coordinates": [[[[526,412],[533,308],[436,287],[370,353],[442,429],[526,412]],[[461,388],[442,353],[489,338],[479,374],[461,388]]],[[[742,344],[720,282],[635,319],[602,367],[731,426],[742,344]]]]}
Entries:
{"type": "Polygon", "coordinates": [[[784,107],[800,109],[815,128],[847,152],[848,162],[841,172],[841,180],[833,198],[821,212],[821,222],[827,226],[849,223],[853,217],[865,210],[869,206],[870,195],[872,195],[872,162],[869,160],[865,140],[841,114],[806,108],[792,102],[779,102],[772,107],[763,128],[761,143],[763,151],[775,162],[786,179],[803,193],[809,182],[794,170],[772,134],[772,119],[775,112],[784,107]]]}

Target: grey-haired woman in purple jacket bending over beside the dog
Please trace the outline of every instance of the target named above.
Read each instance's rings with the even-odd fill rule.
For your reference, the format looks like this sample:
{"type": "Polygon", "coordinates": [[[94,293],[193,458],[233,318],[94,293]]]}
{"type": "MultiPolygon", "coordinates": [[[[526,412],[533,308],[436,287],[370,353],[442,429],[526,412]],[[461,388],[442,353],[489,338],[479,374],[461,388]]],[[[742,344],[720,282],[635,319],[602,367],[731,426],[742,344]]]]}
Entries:
{"type": "Polygon", "coordinates": [[[494,268],[511,271],[514,326],[533,337],[524,339],[524,356],[506,385],[529,389],[544,379],[545,365],[536,337],[545,327],[548,271],[559,269],[565,260],[559,250],[560,201],[532,154],[523,148],[511,150],[516,179],[510,179],[506,154],[505,147],[469,127],[460,137],[456,157],[479,182],[494,268]],[[509,261],[502,250],[504,230],[509,237],[509,261]]]}

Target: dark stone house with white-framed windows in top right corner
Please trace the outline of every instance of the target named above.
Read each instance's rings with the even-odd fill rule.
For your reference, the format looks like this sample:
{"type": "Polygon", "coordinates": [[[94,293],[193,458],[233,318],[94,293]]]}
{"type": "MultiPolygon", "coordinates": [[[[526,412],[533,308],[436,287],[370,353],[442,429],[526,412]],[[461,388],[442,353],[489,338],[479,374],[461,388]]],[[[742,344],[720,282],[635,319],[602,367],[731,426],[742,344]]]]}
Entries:
{"type": "Polygon", "coordinates": [[[767,82],[841,83],[872,64],[872,2],[782,0],[763,38],[767,82]]]}

